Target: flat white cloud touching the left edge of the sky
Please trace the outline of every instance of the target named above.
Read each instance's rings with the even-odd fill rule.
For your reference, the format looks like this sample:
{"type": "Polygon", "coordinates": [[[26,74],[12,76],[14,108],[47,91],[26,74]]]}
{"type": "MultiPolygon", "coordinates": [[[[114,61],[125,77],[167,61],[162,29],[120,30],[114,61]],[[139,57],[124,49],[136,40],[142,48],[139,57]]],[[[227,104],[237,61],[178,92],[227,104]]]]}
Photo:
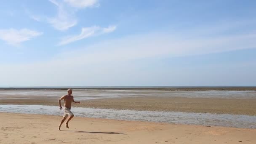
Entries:
{"type": "Polygon", "coordinates": [[[40,35],[43,35],[43,32],[37,32],[30,29],[0,29],[0,40],[6,41],[11,45],[19,45],[24,41],[31,40],[40,35]]]}

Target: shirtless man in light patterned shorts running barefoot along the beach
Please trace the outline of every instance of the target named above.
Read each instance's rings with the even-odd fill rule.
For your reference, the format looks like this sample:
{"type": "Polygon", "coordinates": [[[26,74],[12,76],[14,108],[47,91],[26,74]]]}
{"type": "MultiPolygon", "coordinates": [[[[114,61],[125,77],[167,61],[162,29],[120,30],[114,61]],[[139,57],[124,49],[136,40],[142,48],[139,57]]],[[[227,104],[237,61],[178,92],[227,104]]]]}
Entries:
{"type": "Polygon", "coordinates": [[[74,101],[74,97],[71,95],[72,94],[72,89],[68,89],[67,90],[67,95],[62,96],[59,99],[59,109],[62,109],[61,107],[61,100],[64,99],[64,115],[63,118],[61,120],[61,123],[59,125],[59,131],[61,131],[61,125],[62,123],[64,123],[64,121],[67,119],[67,117],[69,116],[69,118],[67,119],[66,122],[66,128],[69,128],[69,121],[74,117],[73,113],[71,112],[71,103],[75,103],[75,104],[80,104],[80,101],[74,101]]]}

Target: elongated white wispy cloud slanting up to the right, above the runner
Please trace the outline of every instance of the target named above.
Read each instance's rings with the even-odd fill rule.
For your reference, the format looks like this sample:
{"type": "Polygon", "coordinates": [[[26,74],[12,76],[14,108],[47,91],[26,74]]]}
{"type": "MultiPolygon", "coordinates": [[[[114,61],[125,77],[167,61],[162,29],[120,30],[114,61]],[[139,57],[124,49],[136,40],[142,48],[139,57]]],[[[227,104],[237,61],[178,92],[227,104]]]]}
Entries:
{"type": "Polygon", "coordinates": [[[64,37],[58,45],[66,45],[68,43],[75,42],[77,40],[82,40],[91,36],[95,35],[102,35],[105,33],[113,32],[115,31],[116,26],[109,26],[109,27],[83,27],[81,30],[81,33],[79,35],[74,35],[74,36],[69,36],[69,37],[64,37]]]}

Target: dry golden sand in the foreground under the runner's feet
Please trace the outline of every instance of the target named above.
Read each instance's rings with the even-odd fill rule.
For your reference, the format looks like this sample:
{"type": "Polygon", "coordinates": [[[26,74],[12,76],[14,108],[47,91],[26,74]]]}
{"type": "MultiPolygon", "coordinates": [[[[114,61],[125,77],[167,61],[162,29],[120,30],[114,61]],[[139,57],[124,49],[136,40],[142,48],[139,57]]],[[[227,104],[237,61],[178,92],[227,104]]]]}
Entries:
{"type": "Polygon", "coordinates": [[[0,113],[1,144],[256,144],[256,129],[0,113]],[[239,142],[241,141],[241,142],[239,142]]]}

